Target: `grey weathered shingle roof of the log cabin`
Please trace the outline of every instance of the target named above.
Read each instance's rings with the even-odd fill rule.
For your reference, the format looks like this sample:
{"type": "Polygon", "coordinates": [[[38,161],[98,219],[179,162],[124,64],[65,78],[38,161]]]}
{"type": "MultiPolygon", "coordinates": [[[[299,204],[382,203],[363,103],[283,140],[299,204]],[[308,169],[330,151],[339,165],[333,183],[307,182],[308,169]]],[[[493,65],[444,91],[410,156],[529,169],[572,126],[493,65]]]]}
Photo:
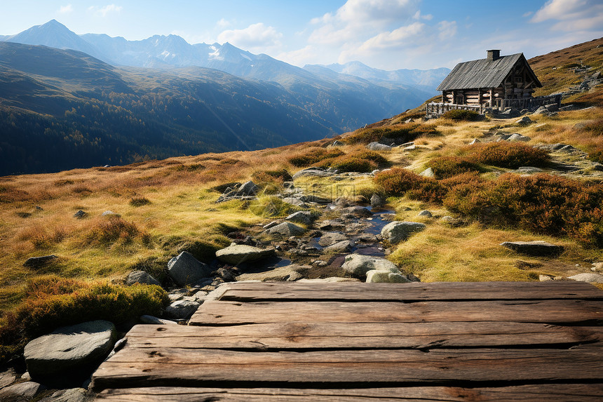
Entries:
{"type": "Polygon", "coordinates": [[[480,60],[471,60],[461,62],[452,69],[452,72],[440,83],[438,91],[449,91],[452,89],[472,89],[472,88],[496,88],[502,85],[505,77],[510,73],[513,66],[524,60],[528,67],[528,72],[536,86],[541,87],[536,74],[529,67],[529,64],[523,53],[514,55],[500,56],[496,60],[487,58],[480,60]]]}

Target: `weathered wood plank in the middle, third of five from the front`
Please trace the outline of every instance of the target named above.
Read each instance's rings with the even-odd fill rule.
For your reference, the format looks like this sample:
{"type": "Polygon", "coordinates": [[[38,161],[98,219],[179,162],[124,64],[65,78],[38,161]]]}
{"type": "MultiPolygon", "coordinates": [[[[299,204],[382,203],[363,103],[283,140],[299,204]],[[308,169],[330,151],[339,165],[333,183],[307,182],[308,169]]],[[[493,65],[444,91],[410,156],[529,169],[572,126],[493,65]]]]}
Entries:
{"type": "Polygon", "coordinates": [[[511,347],[603,340],[601,327],[538,323],[264,323],[241,326],[135,326],[126,347],[188,349],[360,349],[511,347]]]}

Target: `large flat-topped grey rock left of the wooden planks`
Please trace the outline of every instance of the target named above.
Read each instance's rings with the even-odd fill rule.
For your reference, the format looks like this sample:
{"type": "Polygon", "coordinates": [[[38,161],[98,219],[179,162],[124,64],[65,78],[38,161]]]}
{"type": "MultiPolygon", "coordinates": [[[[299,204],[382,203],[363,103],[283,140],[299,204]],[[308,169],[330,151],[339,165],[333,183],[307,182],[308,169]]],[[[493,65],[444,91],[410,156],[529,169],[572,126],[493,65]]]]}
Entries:
{"type": "MultiPolygon", "coordinates": [[[[86,375],[104,359],[115,343],[116,330],[109,321],[88,321],[61,327],[25,345],[27,371],[34,380],[55,383],[68,373],[86,375]]],[[[86,375],[88,377],[88,375],[86,375]]]]}

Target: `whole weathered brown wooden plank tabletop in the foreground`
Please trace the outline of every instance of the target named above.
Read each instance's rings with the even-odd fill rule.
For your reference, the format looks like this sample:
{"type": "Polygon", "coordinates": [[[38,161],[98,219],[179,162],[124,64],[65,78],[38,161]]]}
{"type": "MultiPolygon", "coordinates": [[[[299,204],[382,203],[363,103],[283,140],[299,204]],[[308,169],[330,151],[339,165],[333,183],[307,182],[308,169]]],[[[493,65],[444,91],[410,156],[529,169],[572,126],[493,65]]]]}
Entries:
{"type": "Polygon", "coordinates": [[[189,326],[135,326],[107,401],[600,401],[588,283],[229,283],[189,326]]]}

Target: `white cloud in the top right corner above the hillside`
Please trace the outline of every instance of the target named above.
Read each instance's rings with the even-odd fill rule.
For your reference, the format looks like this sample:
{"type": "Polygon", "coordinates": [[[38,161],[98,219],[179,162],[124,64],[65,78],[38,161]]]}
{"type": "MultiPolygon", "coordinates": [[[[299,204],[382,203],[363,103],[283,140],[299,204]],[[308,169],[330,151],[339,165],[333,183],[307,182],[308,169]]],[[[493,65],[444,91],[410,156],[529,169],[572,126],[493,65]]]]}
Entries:
{"type": "Polygon", "coordinates": [[[549,0],[534,14],[531,22],[557,20],[551,29],[571,32],[603,26],[603,4],[597,0],[549,0]]]}

